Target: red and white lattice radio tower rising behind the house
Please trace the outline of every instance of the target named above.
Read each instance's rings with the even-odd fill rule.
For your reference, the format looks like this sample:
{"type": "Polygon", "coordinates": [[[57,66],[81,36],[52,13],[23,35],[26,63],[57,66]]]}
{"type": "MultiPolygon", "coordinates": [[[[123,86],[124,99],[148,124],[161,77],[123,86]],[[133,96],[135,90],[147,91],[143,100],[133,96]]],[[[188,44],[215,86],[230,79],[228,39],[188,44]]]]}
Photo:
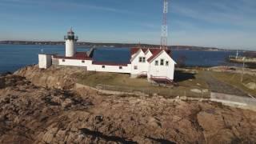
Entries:
{"type": "Polygon", "coordinates": [[[168,26],[167,26],[167,14],[168,14],[168,0],[163,0],[163,16],[162,16],[162,34],[161,34],[161,46],[160,49],[167,49],[167,37],[168,37],[168,26]]]}

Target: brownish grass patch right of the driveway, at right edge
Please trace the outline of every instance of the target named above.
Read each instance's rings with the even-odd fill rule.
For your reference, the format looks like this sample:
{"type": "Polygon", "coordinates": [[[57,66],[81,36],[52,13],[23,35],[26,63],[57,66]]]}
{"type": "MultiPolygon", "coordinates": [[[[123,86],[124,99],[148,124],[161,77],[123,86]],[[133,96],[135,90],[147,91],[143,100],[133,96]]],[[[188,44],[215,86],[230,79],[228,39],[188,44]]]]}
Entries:
{"type": "Polygon", "coordinates": [[[256,96],[256,90],[250,90],[245,86],[249,82],[256,83],[255,76],[244,74],[243,81],[241,82],[242,74],[232,74],[227,72],[212,72],[212,74],[215,78],[218,78],[219,81],[226,82],[232,86],[237,87],[240,90],[243,90],[247,94],[252,94],[256,96]]]}

